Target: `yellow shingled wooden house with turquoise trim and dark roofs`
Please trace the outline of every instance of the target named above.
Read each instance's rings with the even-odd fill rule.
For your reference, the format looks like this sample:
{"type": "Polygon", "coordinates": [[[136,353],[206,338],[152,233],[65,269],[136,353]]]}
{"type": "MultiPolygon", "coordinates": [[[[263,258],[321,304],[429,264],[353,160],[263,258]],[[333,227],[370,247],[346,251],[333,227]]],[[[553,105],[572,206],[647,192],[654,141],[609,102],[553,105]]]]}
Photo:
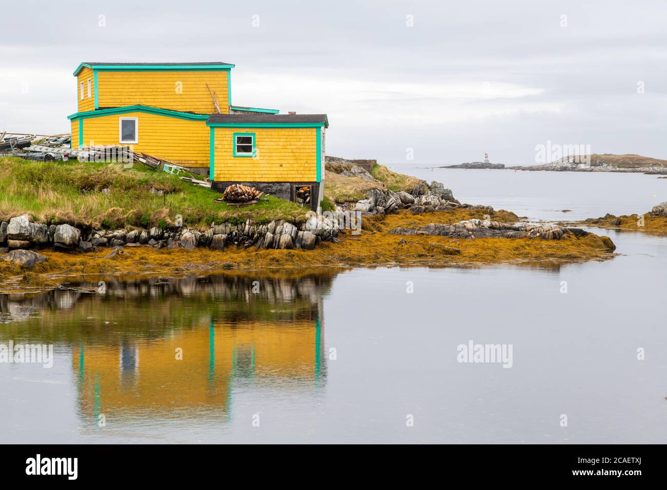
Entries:
{"type": "Polygon", "coordinates": [[[311,209],[323,197],[325,114],[232,105],[223,62],[81,63],[72,148],[122,145],[208,175],[213,189],[252,185],[311,209]]]}

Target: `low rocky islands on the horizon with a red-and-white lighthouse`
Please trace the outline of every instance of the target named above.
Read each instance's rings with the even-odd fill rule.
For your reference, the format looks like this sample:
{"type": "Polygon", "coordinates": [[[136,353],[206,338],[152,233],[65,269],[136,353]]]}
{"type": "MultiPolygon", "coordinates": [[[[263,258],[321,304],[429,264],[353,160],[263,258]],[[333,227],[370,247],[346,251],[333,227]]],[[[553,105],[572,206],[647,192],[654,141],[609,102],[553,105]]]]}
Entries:
{"type": "Polygon", "coordinates": [[[488,154],[484,161],[472,161],[459,165],[445,165],[439,169],[507,169],[526,171],[556,171],[556,172],[624,172],[646,173],[650,175],[667,175],[667,160],[643,157],[630,153],[614,155],[612,153],[592,153],[585,156],[564,157],[551,163],[538,165],[513,165],[506,167],[503,163],[491,163],[488,154]]]}

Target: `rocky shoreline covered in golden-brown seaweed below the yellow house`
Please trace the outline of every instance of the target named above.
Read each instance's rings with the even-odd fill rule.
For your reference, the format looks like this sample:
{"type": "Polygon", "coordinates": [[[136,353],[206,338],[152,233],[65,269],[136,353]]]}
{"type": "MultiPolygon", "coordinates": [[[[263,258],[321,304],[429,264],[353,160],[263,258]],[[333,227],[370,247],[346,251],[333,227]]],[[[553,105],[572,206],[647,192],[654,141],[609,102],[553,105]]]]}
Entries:
{"type": "Polygon", "coordinates": [[[362,167],[346,164],[340,171],[354,175],[355,183],[370,177],[374,188],[363,199],[338,203],[335,212],[308,215],[303,223],[248,219],[206,229],[177,223],[167,229],[99,229],[13,217],[0,223],[0,285],[4,291],[39,289],[81,274],[560,263],[613,256],[608,237],[521,223],[508,211],[460,203],[436,181],[411,177],[403,180],[405,190],[393,191],[376,185],[362,167]],[[354,217],[360,227],[348,227],[341,217],[354,217]]]}

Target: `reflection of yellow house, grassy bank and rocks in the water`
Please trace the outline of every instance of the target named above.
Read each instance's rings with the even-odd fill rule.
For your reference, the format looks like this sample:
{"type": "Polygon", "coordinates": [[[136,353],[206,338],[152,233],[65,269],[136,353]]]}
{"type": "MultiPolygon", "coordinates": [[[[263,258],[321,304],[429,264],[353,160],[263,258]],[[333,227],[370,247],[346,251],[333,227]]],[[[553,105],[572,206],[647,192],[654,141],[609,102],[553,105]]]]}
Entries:
{"type": "Polygon", "coordinates": [[[333,274],[71,283],[1,295],[1,339],[71,348],[77,409],[105,417],[225,415],[235,385],[326,381],[322,296],[333,274]]]}

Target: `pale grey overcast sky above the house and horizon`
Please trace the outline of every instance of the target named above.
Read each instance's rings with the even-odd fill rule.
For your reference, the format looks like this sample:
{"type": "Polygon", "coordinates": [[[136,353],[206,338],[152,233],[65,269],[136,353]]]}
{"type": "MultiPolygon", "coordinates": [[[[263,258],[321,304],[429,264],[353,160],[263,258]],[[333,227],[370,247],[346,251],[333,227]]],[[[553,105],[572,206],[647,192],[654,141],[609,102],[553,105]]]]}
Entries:
{"type": "Polygon", "coordinates": [[[0,131],[69,132],[81,61],[225,61],[232,103],[327,113],[329,155],[530,165],[550,140],[667,159],[665,0],[23,0],[2,17],[0,131]]]}

